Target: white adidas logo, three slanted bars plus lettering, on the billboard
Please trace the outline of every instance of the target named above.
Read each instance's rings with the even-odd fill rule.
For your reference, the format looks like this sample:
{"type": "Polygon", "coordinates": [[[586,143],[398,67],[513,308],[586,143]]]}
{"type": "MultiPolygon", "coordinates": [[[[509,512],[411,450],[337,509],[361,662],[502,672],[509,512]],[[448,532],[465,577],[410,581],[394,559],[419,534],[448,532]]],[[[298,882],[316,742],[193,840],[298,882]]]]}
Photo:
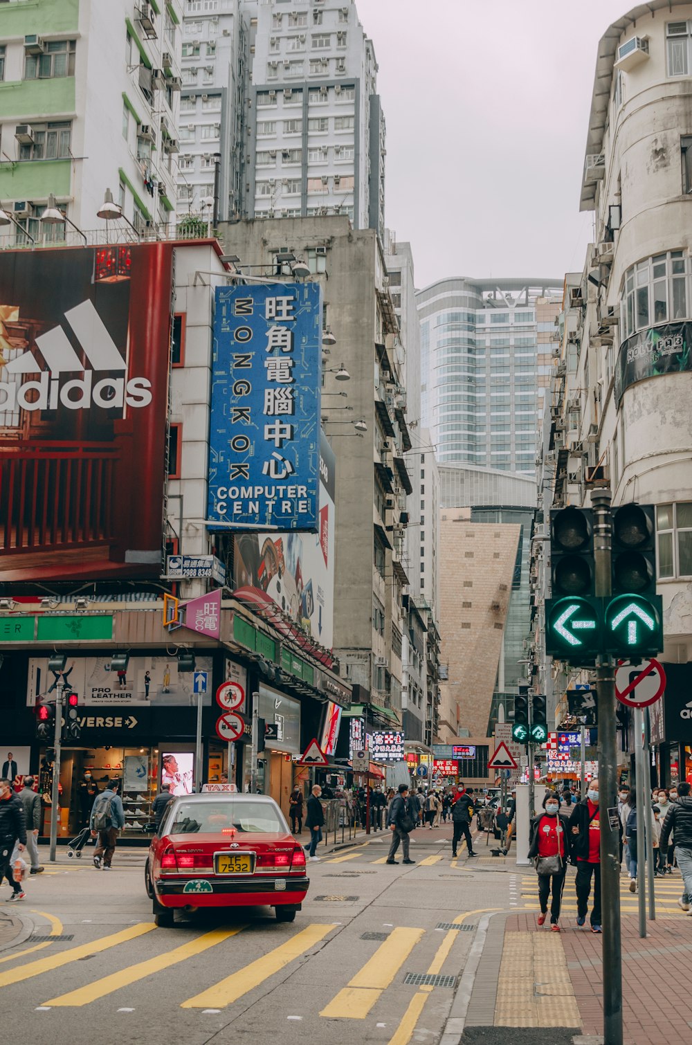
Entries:
{"type": "Polygon", "coordinates": [[[41,370],[33,352],[23,352],[10,359],[4,367],[6,374],[38,374],[38,380],[20,384],[17,380],[0,381],[0,411],[16,410],[89,410],[102,407],[105,410],[121,409],[123,405],[148,407],[152,401],[151,381],[145,377],[131,377],[125,382],[128,369],[125,361],[106,329],[103,322],[91,301],[65,312],[65,319],[84,350],[91,370],[79,362],[70,340],[62,327],[54,327],[36,339],[36,344],[48,365],[41,370]],[[122,377],[102,377],[94,382],[99,371],[121,371],[122,377]],[[61,382],[63,374],[79,373],[61,382]]]}

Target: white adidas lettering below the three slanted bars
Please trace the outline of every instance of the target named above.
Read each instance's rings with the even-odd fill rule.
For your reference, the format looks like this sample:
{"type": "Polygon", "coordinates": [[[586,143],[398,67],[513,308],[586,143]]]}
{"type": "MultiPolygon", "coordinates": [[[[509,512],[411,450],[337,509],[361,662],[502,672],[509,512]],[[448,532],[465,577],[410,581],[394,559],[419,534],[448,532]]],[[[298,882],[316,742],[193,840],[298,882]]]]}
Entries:
{"type": "Polygon", "coordinates": [[[92,404],[119,410],[125,404],[148,407],[152,401],[152,384],[145,377],[131,377],[126,384],[123,377],[102,377],[93,387],[92,384],[91,371],[62,386],[56,377],[51,378],[45,372],[38,380],[23,385],[0,381],[0,410],[57,410],[60,404],[67,410],[89,410],[92,404]]]}

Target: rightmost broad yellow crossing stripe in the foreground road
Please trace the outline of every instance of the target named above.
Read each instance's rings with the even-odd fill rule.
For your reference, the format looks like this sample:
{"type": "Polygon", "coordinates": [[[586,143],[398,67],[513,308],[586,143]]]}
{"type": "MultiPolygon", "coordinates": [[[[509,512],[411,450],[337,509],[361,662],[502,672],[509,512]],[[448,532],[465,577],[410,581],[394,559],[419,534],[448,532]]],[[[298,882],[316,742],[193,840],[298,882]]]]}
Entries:
{"type": "Polygon", "coordinates": [[[424,929],[393,929],[372,957],[348,981],[348,986],[331,999],[320,1016],[328,1019],[364,1020],[424,932],[424,929]]]}

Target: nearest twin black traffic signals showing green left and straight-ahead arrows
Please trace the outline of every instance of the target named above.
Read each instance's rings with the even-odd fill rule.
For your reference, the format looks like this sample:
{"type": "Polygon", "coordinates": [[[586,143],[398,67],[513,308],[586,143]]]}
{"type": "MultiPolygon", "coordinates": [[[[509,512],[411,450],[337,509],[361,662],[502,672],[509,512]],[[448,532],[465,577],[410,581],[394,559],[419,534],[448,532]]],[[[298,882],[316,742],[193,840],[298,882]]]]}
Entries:
{"type": "Polygon", "coordinates": [[[593,513],[551,513],[553,598],[546,600],[546,652],[585,665],[595,655],[654,656],[663,649],[663,601],[655,594],[651,505],[613,511],[612,596],[595,596],[593,513]]]}

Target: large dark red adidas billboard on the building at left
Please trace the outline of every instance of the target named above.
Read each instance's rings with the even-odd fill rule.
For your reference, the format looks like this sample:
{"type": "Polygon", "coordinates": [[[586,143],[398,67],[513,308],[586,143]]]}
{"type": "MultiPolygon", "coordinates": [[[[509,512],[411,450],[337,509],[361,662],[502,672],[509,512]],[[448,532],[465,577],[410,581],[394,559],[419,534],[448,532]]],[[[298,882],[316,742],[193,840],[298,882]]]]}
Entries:
{"type": "Polygon", "coordinates": [[[172,252],[0,254],[0,581],[160,577],[172,252]]]}

